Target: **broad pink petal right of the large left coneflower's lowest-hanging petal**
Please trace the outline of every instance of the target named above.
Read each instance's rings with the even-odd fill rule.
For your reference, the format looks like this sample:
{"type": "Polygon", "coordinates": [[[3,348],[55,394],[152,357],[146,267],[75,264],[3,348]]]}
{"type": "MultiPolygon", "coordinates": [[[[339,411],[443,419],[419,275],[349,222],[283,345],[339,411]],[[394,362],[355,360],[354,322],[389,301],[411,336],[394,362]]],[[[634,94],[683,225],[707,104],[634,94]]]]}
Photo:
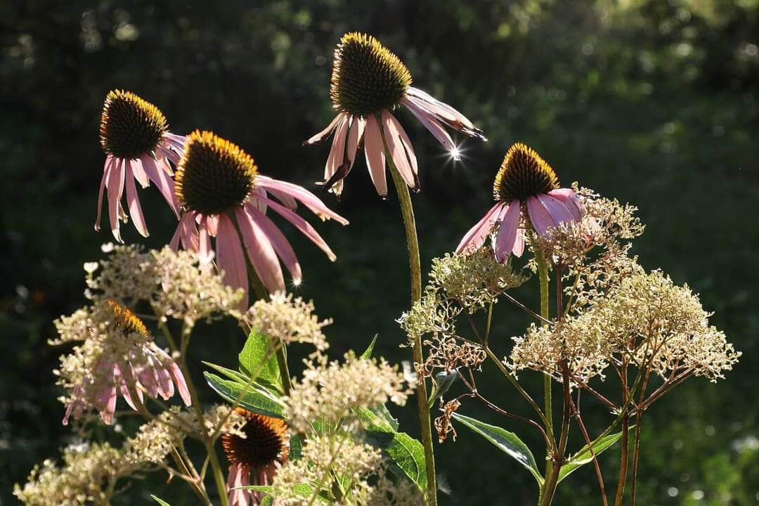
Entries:
{"type": "MultiPolygon", "coordinates": [[[[272,201],[269,200],[269,206],[272,201]]],[[[287,209],[283,206],[283,209],[287,209]]],[[[290,209],[287,209],[289,212],[290,209]]],[[[293,213],[294,214],[294,213],[293,213]]],[[[285,278],[282,276],[282,267],[279,265],[277,254],[269,242],[269,238],[263,233],[260,225],[244,209],[235,209],[235,218],[242,232],[245,250],[250,258],[250,264],[256,271],[263,286],[270,293],[285,291],[285,278]]]]}

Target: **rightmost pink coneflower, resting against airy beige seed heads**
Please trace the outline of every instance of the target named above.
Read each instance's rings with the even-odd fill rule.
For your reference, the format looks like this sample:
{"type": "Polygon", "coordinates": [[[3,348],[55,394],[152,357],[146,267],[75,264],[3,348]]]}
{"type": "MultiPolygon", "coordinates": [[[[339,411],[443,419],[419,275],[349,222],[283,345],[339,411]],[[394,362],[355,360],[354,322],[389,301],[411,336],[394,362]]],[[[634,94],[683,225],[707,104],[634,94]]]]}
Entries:
{"type": "Polygon", "coordinates": [[[485,243],[496,226],[493,251],[499,262],[524,251],[524,232],[531,228],[545,235],[562,222],[580,220],[585,209],[571,188],[560,188],[548,162],[522,143],[509,148],[493,183],[497,201],[461,239],[456,253],[471,253],[485,243]]]}

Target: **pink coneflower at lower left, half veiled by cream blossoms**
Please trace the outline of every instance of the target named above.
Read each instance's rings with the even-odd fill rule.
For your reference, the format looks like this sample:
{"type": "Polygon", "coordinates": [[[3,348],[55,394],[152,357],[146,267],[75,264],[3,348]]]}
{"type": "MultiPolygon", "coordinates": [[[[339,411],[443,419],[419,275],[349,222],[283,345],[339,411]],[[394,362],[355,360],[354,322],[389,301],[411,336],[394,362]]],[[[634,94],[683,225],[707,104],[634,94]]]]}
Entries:
{"type": "Polygon", "coordinates": [[[71,415],[79,418],[87,407],[98,410],[104,423],[113,423],[118,394],[137,410],[144,394],[160,395],[166,401],[175,394],[176,385],[184,404],[191,404],[181,369],[156,346],[143,322],[128,308],[106,299],[84,321],[88,335],[80,336],[84,342],[72,354],[61,357],[58,371],[61,384],[71,388],[64,425],[71,415]]]}

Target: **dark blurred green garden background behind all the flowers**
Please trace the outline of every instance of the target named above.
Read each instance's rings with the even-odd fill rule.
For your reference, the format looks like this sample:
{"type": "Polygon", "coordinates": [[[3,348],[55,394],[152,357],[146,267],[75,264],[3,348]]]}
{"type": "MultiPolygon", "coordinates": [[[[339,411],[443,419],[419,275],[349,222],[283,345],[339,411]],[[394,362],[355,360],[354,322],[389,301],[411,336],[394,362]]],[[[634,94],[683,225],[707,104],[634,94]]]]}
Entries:
{"type": "MultiPolygon", "coordinates": [[[[329,147],[301,141],[332,118],[332,49],[348,30],[378,36],[415,86],[490,138],[458,137],[465,159],[452,164],[399,112],[420,161],[414,205],[425,269],[490,206],[493,175],[516,140],[537,149],[565,184],[641,208],[647,231],[635,254],[701,292],[714,324],[744,355],[726,380],[691,380],[651,410],[638,504],[759,502],[757,0],[25,0],[0,2],[0,27],[0,504],[14,503],[12,484],[71,441],[53,385],[61,350],[46,340],[53,319],[84,303],[83,262],[102,257],[99,245],[112,240],[93,231],[106,93],[134,91],[162,108],[175,133],[213,129],[247,149],[264,174],[317,190],[329,147]]],[[[335,356],[363,349],[378,332],[379,352],[403,360],[394,320],[408,307],[408,263],[397,203],[379,200],[363,162],[341,202],[324,197],[351,225],[320,225],[334,264],[283,225],[304,266],[297,292],[335,319],[327,332],[335,356]]],[[[154,189],[140,198],[152,233],[143,243],[160,247],[174,218],[154,189]]],[[[131,225],[125,238],[140,239],[131,225]]],[[[517,295],[537,303],[531,288],[517,295]]],[[[526,321],[512,306],[497,309],[496,347],[506,354],[526,321]]],[[[241,343],[231,325],[200,328],[192,358],[234,366],[241,343]]],[[[492,369],[480,388],[524,410],[492,369]]],[[[594,409],[587,402],[586,413],[594,409]]],[[[473,401],[461,413],[537,448],[527,428],[473,401]]],[[[597,413],[591,425],[600,429],[608,415],[597,413]]],[[[417,432],[411,407],[398,415],[417,432]]],[[[534,483],[515,461],[458,432],[457,442],[438,447],[442,504],[534,501],[534,483]]],[[[607,483],[616,481],[617,460],[614,451],[602,457],[607,483]]],[[[146,490],[176,498],[181,487],[156,475],[121,504],[146,503],[146,490]]],[[[556,504],[600,504],[591,467],[562,484],[556,504]]]]}

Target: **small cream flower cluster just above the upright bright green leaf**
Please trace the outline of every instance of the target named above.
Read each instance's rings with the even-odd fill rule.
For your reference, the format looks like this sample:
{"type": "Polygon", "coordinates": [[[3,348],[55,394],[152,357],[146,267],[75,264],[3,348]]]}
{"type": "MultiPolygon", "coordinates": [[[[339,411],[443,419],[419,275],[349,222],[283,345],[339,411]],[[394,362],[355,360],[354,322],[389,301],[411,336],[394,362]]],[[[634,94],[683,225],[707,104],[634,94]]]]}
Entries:
{"type": "Polygon", "coordinates": [[[277,292],[269,300],[257,300],[244,313],[241,322],[284,344],[308,343],[323,351],[329,344],[322,328],[330,325],[332,320],[320,322],[313,314],[314,310],[313,302],[277,292]]]}

